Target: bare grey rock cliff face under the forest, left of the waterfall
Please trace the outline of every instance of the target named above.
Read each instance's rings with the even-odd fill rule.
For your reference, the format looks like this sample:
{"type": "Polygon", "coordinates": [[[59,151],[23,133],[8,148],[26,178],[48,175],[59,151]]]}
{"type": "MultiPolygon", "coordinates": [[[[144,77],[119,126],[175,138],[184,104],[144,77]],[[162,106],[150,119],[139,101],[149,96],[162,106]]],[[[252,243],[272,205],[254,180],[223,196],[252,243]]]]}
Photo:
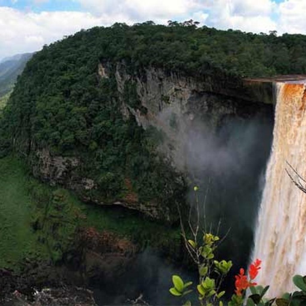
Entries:
{"type": "MultiPolygon", "coordinates": [[[[102,78],[108,77],[109,63],[99,65],[102,78]]],[[[154,126],[161,130],[164,141],[161,150],[181,171],[188,131],[199,124],[214,134],[227,118],[269,117],[272,114],[273,83],[252,80],[202,79],[154,67],[131,75],[123,63],[116,65],[116,81],[122,102],[122,114],[132,114],[144,129],[154,126]],[[125,86],[135,84],[139,105],[129,105],[125,86]]]]}

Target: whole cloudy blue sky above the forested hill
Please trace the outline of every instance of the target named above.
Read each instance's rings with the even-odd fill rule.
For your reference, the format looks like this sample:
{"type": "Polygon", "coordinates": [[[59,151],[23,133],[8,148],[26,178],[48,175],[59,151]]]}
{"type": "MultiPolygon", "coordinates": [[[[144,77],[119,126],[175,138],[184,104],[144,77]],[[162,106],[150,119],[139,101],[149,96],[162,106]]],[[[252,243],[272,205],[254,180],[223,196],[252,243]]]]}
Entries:
{"type": "Polygon", "coordinates": [[[0,0],[0,59],[81,28],[193,19],[220,29],[306,34],[306,0],[0,0]]]}

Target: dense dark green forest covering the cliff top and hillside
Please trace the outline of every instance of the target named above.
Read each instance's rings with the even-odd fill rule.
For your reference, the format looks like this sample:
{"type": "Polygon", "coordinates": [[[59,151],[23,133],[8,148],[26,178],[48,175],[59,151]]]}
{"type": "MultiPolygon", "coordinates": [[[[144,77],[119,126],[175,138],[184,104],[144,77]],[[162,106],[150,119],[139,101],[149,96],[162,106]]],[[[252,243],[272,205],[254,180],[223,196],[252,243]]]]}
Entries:
{"type": "MultiPolygon", "coordinates": [[[[30,158],[31,144],[53,155],[79,156],[80,175],[97,182],[95,192],[104,200],[124,197],[128,179],[140,202],[173,207],[185,187],[155,150],[162,135],[144,131],[133,116],[122,117],[115,65],[101,79],[99,62],[124,61],[131,74],[154,65],[239,78],[306,73],[305,51],[303,35],[219,31],[192,21],[82,30],[43,47],[26,65],[2,114],[0,154],[9,152],[14,138],[30,158]]],[[[135,87],[125,88],[125,97],[139,107],[135,87]]]]}

